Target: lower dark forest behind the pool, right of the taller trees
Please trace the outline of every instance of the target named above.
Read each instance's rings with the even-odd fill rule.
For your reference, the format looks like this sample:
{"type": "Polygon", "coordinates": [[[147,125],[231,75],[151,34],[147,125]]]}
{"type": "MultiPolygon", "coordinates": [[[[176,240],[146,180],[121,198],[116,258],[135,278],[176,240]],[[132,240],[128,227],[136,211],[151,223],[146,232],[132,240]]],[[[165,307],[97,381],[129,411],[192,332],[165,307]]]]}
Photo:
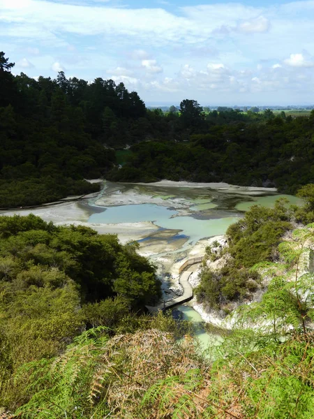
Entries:
{"type": "Polygon", "coordinates": [[[111,179],[223,181],[290,193],[314,181],[313,111],[294,119],[271,111],[266,116],[214,111],[200,113],[197,126],[186,122],[190,125],[183,128],[185,112],[173,116],[178,127],[174,140],[160,137],[134,145],[129,163],[113,171],[111,179]]]}

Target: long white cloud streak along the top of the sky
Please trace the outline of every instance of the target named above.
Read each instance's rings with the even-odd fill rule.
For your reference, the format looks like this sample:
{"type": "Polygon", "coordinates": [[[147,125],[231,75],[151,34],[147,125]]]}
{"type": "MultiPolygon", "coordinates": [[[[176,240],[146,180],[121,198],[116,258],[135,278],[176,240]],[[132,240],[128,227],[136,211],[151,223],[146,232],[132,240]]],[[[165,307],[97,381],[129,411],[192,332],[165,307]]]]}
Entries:
{"type": "MultiPolygon", "coordinates": [[[[185,7],[181,8],[181,15],[175,15],[162,8],[80,6],[47,0],[2,2],[0,21],[19,22],[20,30],[18,33],[12,31],[12,36],[27,38],[29,31],[33,32],[33,38],[37,31],[40,41],[44,41],[46,36],[66,32],[89,36],[103,34],[141,38],[142,45],[171,45],[182,41],[201,45],[213,31],[219,31],[223,27],[227,28],[227,31],[228,28],[237,28],[241,20],[240,31],[262,32],[268,27],[267,18],[261,15],[261,8],[241,6],[237,3],[185,7]]],[[[126,41],[126,38],[123,39],[126,41]]],[[[141,50],[138,54],[135,51],[135,58],[149,59],[147,54],[144,55],[145,57],[141,55],[141,50]]]]}

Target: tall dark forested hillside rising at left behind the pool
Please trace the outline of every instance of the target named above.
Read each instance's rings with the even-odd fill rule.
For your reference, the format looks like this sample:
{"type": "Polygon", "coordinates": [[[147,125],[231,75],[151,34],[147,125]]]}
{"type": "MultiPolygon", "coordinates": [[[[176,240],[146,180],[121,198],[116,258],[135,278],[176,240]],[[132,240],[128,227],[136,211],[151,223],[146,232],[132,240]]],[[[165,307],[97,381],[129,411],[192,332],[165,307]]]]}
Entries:
{"type": "Polygon", "coordinates": [[[0,207],[35,205],[98,190],[115,161],[106,145],[137,138],[144,103],[123,84],[13,76],[0,53],[0,207]]]}

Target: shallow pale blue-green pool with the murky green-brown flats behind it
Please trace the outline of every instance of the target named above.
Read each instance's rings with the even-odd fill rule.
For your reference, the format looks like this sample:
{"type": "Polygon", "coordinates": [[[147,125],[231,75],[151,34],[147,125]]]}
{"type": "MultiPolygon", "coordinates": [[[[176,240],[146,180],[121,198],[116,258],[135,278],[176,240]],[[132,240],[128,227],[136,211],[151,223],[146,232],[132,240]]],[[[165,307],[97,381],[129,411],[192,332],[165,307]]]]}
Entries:
{"type": "MultiPolygon", "coordinates": [[[[230,224],[236,222],[252,205],[273,207],[278,198],[287,198],[293,204],[301,203],[294,196],[278,195],[274,191],[269,191],[269,195],[266,195],[267,191],[261,191],[260,195],[262,193],[264,196],[244,196],[241,191],[237,193],[234,190],[107,182],[100,198],[96,199],[96,205],[90,202],[91,216],[88,222],[119,224],[150,221],[160,228],[181,230],[181,235],[188,237],[186,244],[181,247],[183,251],[198,240],[225,234],[230,224]]],[[[177,233],[173,235],[174,240],[179,240],[177,233]]],[[[156,254],[160,254],[160,248],[156,254]]]]}

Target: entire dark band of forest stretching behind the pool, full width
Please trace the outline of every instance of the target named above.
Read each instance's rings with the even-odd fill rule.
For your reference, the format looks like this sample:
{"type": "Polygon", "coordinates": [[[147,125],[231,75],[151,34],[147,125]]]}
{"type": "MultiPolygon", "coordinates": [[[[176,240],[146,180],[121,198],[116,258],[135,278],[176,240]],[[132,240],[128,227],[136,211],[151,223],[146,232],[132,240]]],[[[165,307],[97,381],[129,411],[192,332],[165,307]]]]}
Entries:
{"type": "Polygon", "coordinates": [[[276,186],[314,182],[314,113],[149,110],[123,83],[13,75],[0,53],[0,207],[95,192],[84,179],[276,186]],[[130,147],[124,150],[126,146],[130,147]],[[122,163],[122,167],[121,164],[122,163]]]}

